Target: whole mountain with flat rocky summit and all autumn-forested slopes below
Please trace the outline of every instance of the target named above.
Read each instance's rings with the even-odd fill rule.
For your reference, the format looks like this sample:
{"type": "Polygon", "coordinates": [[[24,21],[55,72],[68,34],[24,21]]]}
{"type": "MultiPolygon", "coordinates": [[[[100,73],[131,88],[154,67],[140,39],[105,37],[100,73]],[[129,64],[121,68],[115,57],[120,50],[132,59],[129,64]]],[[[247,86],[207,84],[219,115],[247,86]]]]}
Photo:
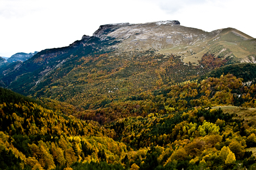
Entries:
{"type": "Polygon", "coordinates": [[[9,63],[0,84],[20,94],[0,87],[0,167],[255,169],[254,61],[236,29],[163,21],[9,63]]]}

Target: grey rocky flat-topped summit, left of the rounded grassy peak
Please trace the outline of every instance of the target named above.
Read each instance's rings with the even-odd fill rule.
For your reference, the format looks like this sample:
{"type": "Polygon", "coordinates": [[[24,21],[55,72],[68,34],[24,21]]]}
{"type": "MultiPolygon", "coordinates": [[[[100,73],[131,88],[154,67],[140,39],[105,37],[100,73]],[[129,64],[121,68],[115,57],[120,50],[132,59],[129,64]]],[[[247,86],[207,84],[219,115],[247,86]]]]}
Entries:
{"type": "Polygon", "coordinates": [[[203,40],[207,33],[201,29],[187,28],[177,20],[166,20],[144,24],[108,24],[101,25],[93,36],[106,40],[108,37],[118,40],[113,48],[121,51],[160,50],[189,45],[203,40]]]}

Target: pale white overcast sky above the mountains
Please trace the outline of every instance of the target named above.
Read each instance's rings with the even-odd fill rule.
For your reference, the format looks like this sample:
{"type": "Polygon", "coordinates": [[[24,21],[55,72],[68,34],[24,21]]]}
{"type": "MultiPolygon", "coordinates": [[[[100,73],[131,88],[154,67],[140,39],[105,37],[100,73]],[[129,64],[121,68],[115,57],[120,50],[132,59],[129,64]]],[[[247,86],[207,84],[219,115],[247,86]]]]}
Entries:
{"type": "Polygon", "coordinates": [[[0,0],[0,56],[68,46],[100,25],[179,20],[256,37],[255,0],[0,0]]]}

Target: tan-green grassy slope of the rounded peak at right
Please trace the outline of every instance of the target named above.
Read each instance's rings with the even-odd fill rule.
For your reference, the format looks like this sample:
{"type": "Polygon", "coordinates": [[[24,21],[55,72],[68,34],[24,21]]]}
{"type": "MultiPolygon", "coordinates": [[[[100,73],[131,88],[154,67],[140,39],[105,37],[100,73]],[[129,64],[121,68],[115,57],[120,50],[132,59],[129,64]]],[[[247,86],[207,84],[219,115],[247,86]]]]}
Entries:
{"type": "Polygon", "coordinates": [[[160,50],[160,53],[169,52],[180,54],[180,52],[182,52],[184,58],[183,61],[185,63],[190,61],[191,63],[194,63],[194,65],[198,64],[197,61],[201,59],[203,54],[209,52],[215,54],[216,57],[220,56],[222,58],[225,56],[223,55],[224,53],[229,52],[226,53],[226,57],[237,57],[239,61],[241,59],[245,59],[248,56],[256,55],[255,44],[253,43],[254,40],[252,39],[253,37],[250,37],[245,33],[238,31],[237,29],[226,28],[222,30],[220,35],[209,38],[203,42],[198,41],[195,44],[189,46],[180,46],[180,48],[162,49],[160,50]],[[190,52],[195,54],[191,55],[190,52]]]}

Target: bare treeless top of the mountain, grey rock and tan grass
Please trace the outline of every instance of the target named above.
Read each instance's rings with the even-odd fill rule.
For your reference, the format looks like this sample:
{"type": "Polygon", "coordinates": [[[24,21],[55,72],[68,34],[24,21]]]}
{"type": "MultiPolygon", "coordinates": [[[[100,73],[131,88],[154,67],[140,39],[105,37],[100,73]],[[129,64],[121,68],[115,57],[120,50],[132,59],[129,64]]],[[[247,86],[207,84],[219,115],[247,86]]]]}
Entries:
{"type": "Polygon", "coordinates": [[[121,52],[153,49],[159,54],[178,54],[184,63],[198,64],[205,53],[231,60],[229,62],[254,62],[249,58],[255,57],[255,39],[233,28],[208,33],[183,27],[178,21],[124,23],[103,25],[93,36],[101,40],[115,38],[121,43],[114,47],[121,52]]]}

